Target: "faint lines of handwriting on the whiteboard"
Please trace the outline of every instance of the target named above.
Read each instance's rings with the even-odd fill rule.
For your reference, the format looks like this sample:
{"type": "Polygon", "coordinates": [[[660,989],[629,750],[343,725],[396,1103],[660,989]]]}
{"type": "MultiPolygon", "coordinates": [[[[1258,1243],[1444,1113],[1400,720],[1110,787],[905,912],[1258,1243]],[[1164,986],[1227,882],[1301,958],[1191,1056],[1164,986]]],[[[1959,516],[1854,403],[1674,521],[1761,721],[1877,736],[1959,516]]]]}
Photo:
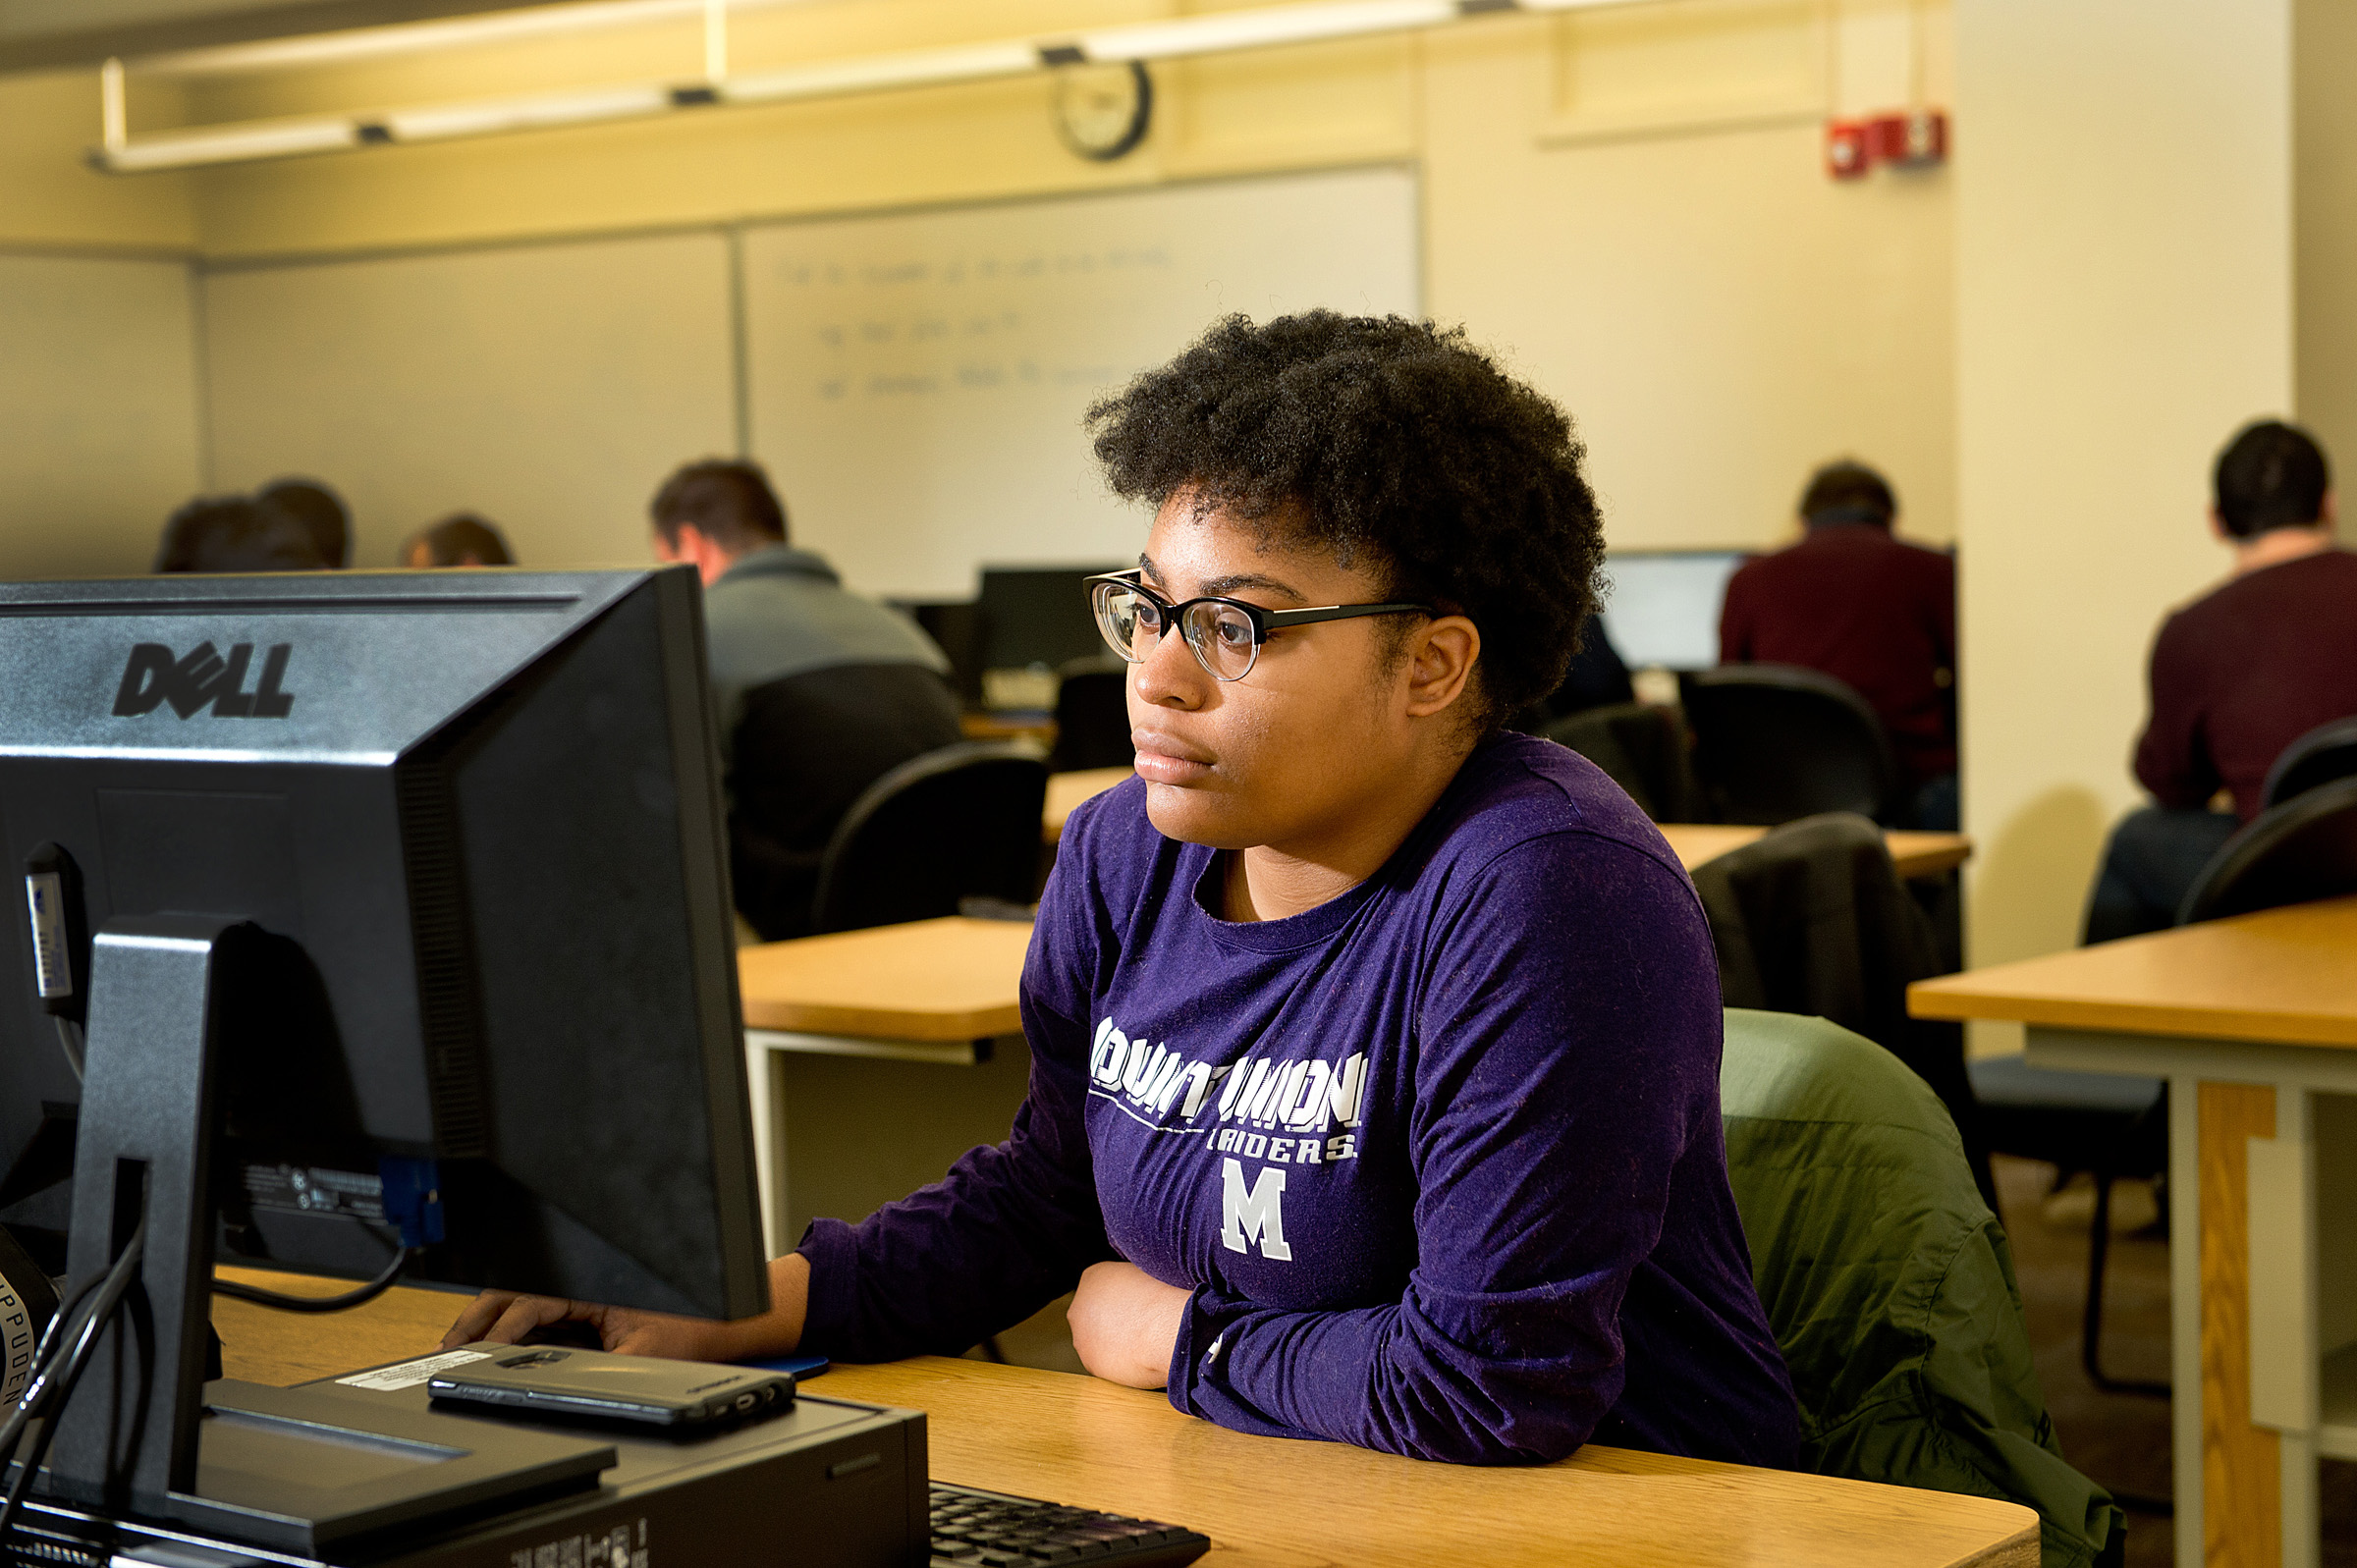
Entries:
{"type": "Polygon", "coordinates": [[[1028,389],[1096,389],[1134,365],[1061,363],[1037,349],[1075,290],[1120,302],[1171,269],[1162,245],[1039,250],[945,259],[783,259],[806,292],[811,387],[820,401],[910,401],[1028,389]],[[1042,321],[1044,318],[1044,321],[1042,321]]]}

